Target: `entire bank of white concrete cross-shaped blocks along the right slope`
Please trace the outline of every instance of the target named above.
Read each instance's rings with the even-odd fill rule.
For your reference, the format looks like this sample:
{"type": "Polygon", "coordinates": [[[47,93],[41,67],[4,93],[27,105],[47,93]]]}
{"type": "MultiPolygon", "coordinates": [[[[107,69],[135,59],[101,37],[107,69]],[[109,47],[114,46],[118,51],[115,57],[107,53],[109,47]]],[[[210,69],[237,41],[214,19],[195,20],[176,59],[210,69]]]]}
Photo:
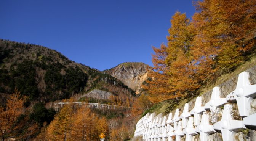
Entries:
{"type": "Polygon", "coordinates": [[[180,141],[185,136],[186,141],[192,141],[193,136],[200,134],[200,140],[207,141],[210,134],[218,131],[221,132],[223,141],[233,141],[235,131],[255,129],[256,113],[249,113],[251,100],[256,96],[256,85],[250,84],[249,73],[239,74],[236,89],[227,97],[221,98],[220,93],[219,87],[214,87],[210,101],[204,106],[202,98],[197,97],[190,112],[189,104],[186,103],[182,114],[176,109],[174,117],[172,113],[167,116],[162,116],[162,113],[157,116],[155,113],[147,113],[137,122],[134,136],[142,136],[146,141],[180,141]],[[231,101],[237,103],[243,120],[234,119],[231,101]],[[218,114],[222,114],[220,121],[218,114]]]}

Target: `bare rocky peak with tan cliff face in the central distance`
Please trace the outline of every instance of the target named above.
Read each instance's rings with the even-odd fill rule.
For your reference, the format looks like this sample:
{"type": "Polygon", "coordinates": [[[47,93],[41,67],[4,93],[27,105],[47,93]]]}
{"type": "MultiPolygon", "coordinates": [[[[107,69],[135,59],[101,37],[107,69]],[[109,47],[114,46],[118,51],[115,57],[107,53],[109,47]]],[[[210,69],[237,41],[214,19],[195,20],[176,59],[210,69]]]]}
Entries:
{"type": "Polygon", "coordinates": [[[126,62],[104,72],[119,79],[139,94],[141,85],[147,78],[147,65],[141,62],[126,62]]]}

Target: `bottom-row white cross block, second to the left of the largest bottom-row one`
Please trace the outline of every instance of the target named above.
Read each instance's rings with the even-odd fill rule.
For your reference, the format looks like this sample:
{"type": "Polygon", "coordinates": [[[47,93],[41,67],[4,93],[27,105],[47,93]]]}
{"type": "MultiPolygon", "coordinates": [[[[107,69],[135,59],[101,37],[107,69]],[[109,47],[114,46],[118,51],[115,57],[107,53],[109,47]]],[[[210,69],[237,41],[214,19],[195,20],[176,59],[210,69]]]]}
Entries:
{"type": "Polygon", "coordinates": [[[197,132],[195,132],[193,122],[194,122],[194,118],[189,117],[189,121],[187,122],[187,127],[183,129],[183,133],[186,134],[186,141],[192,141],[192,137],[197,135],[197,132]]]}

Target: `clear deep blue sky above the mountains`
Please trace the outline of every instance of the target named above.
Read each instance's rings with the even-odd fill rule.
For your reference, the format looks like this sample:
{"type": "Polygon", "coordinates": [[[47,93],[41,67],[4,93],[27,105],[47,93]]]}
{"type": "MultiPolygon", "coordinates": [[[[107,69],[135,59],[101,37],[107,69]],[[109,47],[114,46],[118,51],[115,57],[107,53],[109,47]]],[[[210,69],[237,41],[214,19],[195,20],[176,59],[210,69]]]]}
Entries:
{"type": "Polygon", "coordinates": [[[123,62],[152,65],[171,16],[191,17],[191,0],[2,0],[0,38],[39,44],[104,70],[123,62]]]}

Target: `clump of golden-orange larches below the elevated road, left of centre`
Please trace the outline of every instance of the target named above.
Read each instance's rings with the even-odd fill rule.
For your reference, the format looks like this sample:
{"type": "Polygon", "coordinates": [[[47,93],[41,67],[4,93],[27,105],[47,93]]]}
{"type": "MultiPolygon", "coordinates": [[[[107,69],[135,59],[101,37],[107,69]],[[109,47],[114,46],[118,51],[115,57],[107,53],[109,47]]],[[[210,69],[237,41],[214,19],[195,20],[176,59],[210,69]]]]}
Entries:
{"type": "Polygon", "coordinates": [[[46,130],[46,137],[50,140],[96,140],[99,134],[109,136],[106,118],[98,118],[85,106],[77,111],[72,105],[64,105],[59,114],[54,117],[46,130]]]}

